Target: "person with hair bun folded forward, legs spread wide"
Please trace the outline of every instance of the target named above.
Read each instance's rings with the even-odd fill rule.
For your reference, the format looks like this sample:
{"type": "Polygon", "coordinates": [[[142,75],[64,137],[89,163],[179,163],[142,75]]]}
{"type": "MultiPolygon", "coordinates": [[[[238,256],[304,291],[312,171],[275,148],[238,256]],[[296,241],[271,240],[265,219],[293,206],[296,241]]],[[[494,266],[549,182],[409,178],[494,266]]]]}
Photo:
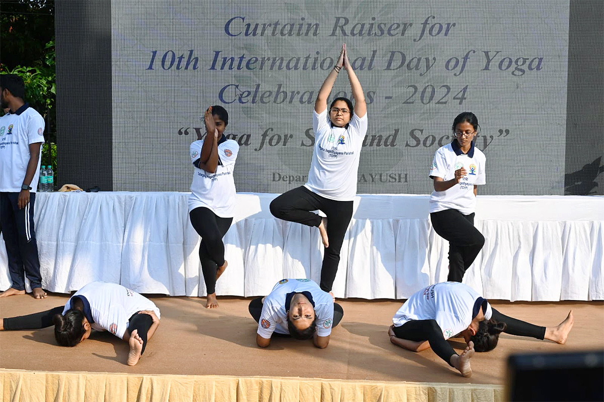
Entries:
{"type": "Polygon", "coordinates": [[[538,327],[501,314],[464,283],[443,282],[411,295],[392,321],[388,335],[394,345],[414,352],[432,348],[461,375],[470,377],[474,352],[493,350],[501,332],[565,344],[574,318],[571,310],[556,327],[538,327]],[[446,341],[455,334],[467,343],[461,355],[446,341]]]}

